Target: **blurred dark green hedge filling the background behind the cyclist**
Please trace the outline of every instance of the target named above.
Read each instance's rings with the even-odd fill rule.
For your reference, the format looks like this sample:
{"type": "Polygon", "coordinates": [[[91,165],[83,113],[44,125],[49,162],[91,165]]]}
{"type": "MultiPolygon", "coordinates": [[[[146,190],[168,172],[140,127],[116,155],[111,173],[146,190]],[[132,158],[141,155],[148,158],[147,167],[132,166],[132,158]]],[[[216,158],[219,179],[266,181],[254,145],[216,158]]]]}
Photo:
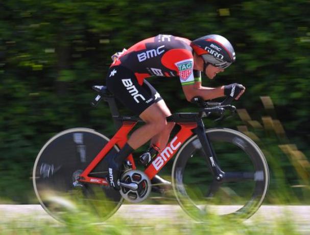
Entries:
{"type": "MultiPolygon", "coordinates": [[[[112,135],[108,109],[89,105],[95,95],[90,87],[104,83],[110,55],[159,33],[228,38],[236,63],[203,84],[245,85],[236,105],[254,119],[263,112],[259,96],[270,96],[291,143],[309,156],[308,9],[306,0],[1,2],[0,197],[29,201],[33,162],[53,134],[89,127],[112,135]]],[[[152,84],[172,112],[192,110],[178,79],[156,78],[152,84]]],[[[221,125],[235,127],[240,121],[221,125]]],[[[273,146],[273,140],[265,143],[273,146]]],[[[286,174],[287,161],[276,162],[285,168],[285,181],[298,180],[286,174]]]]}

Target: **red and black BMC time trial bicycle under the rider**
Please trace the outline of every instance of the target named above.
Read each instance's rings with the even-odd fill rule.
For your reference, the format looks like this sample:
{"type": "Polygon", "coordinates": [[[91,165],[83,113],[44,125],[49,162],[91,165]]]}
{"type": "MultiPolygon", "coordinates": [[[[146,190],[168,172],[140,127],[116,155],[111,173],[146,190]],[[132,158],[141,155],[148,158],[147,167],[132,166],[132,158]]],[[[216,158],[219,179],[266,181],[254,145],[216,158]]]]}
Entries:
{"type": "Polygon", "coordinates": [[[108,102],[118,130],[109,139],[88,128],[73,128],[52,137],[40,150],[33,169],[36,196],[47,213],[64,221],[70,213],[96,213],[101,221],[112,216],[124,199],[142,202],[151,192],[151,179],[173,158],[172,188],[184,211],[198,221],[212,214],[246,219],[259,208],[269,185],[269,170],[263,152],[247,135],[227,128],[205,129],[202,119],[236,108],[227,98],[211,103],[195,98],[197,112],[174,113],[168,122],[179,126],[177,134],[152,159],[144,171],[137,170],[133,155],[124,163],[121,190],[107,182],[108,162],[127,142],[138,122],[120,115],[115,98],[105,86],[92,105],[108,102]]]}

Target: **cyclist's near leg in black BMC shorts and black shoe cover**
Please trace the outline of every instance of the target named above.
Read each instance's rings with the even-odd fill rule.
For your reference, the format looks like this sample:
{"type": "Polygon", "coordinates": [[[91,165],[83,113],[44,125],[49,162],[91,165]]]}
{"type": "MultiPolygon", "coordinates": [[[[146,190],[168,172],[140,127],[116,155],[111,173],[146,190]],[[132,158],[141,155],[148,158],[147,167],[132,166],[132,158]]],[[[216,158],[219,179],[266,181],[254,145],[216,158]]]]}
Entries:
{"type": "Polygon", "coordinates": [[[158,104],[161,100],[159,93],[154,89],[156,96],[153,96],[148,82],[144,86],[138,84],[131,70],[123,66],[111,67],[106,84],[118,100],[146,122],[144,126],[132,133],[127,144],[111,159],[108,180],[115,189],[120,189],[119,177],[122,162],[134,149],[164,130],[167,122],[165,112],[162,110],[162,106],[158,104]]]}

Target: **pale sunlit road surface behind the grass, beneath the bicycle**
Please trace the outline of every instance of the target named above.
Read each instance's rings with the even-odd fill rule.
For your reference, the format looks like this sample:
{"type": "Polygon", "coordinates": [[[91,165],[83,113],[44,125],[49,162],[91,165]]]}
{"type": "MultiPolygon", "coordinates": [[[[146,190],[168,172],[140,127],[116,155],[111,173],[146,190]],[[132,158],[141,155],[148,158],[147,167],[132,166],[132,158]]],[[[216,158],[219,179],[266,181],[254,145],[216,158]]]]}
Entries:
{"type": "MultiPolygon", "coordinates": [[[[232,209],[233,206],[223,206],[223,210],[232,209]]],[[[41,205],[0,205],[0,222],[23,219],[27,221],[39,219],[57,223],[47,214],[41,205]]],[[[255,221],[264,221],[264,225],[274,223],[277,219],[287,217],[295,222],[298,231],[302,234],[310,234],[310,206],[279,206],[263,205],[245,223],[256,224],[255,221]]],[[[149,219],[167,219],[172,223],[182,223],[190,219],[179,205],[122,205],[112,218],[135,218],[136,221],[150,221],[149,219]]]]}

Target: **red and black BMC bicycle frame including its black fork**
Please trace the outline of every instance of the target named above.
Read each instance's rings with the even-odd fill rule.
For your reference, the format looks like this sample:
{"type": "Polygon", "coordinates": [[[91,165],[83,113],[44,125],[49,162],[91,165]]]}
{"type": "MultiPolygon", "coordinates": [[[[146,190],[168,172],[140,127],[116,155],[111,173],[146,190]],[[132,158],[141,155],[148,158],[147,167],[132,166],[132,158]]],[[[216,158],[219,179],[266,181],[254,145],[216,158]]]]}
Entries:
{"type": "MultiPolygon", "coordinates": [[[[90,177],[89,173],[98,165],[98,163],[106,156],[106,154],[116,145],[118,148],[123,148],[127,143],[127,136],[137,122],[141,122],[140,119],[132,116],[113,116],[114,119],[118,119],[116,122],[121,122],[122,125],[111,138],[106,146],[98,153],[98,155],[90,162],[88,167],[80,175],[79,181],[88,183],[97,183],[108,185],[105,178],[90,177]]],[[[114,120],[115,121],[115,120],[114,120]]],[[[204,124],[201,116],[198,113],[174,113],[167,117],[168,122],[175,122],[180,125],[179,132],[171,138],[170,143],[152,159],[150,165],[145,169],[146,175],[152,179],[174,156],[183,143],[193,134],[197,134],[205,152],[206,160],[209,163],[210,170],[215,179],[221,180],[223,172],[221,171],[216,155],[214,154],[212,147],[209,143],[208,137],[205,134],[204,124]]],[[[132,169],[135,170],[135,162],[132,154],[130,154],[127,160],[131,163],[132,169]]]]}

